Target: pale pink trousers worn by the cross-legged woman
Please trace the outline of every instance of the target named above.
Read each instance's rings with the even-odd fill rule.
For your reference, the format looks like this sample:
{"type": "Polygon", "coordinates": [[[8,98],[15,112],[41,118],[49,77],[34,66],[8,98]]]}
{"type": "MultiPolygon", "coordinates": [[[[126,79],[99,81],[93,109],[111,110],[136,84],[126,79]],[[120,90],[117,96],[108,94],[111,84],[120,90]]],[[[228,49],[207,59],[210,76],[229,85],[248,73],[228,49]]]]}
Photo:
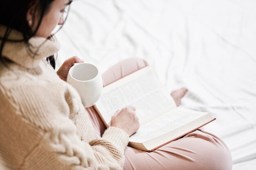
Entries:
{"type": "MultiPolygon", "coordinates": [[[[103,76],[103,84],[130,74],[147,63],[139,58],[130,58],[108,69],[103,76]]],[[[93,107],[86,108],[98,137],[105,126],[93,107]]],[[[125,149],[124,170],[231,170],[231,154],[224,142],[215,135],[201,130],[189,133],[152,152],[137,150],[129,146],[125,149]]]]}

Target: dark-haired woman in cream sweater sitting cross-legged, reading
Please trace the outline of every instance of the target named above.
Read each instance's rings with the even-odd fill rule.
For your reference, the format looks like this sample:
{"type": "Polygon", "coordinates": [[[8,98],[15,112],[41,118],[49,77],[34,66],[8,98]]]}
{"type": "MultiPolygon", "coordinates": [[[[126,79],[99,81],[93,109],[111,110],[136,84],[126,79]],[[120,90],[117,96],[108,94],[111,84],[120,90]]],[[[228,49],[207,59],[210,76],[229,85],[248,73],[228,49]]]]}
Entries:
{"type": "MultiPolygon", "coordinates": [[[[2,162],[24,170],[231,169],[229,150],[214,135],[195,131],[146,153],[127,146],[139,128],[134,107],[117,112],[108,129],[92,108],[85,110],[65,82],[73,63],[83,61],[72,57],[57,74],[53,69],[59,46],[51,33],[63,25],[71,2],[9,0],[0,6],[2,162]]],[[[121,61],[103,74],[104,85],[145,65],[141,59],[121,61]]],[[[177,105],[185,93],[172,93],[177,105]]]]}

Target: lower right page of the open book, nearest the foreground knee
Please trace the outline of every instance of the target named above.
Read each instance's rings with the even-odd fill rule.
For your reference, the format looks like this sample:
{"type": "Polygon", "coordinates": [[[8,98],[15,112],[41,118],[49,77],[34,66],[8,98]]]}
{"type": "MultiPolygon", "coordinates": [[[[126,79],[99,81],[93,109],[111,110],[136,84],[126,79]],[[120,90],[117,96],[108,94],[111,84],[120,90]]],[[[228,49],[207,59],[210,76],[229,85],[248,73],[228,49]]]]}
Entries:
{"type": "Polygon", "coordinates": [[[209,113],[177,107],[159,118],[140,126],[137,133],[130,137],[130,141],[138,143],[145,142],[149,139],[153,139],[184,126],[185,124],[188,124],[193,120],[197,120],[206,114],[209,113]]]}

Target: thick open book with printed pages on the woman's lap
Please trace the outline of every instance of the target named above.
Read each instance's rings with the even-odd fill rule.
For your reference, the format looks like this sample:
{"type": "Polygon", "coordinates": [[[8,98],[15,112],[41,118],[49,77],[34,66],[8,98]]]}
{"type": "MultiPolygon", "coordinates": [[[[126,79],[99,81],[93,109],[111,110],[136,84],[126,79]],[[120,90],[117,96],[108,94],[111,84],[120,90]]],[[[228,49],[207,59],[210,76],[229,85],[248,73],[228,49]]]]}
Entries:
{"type": "Polygon", "coordinates": [[[94,107],[108,127],[114,113],[128,105],[136,108],[141,125],[129,146],[140,150],[155,150],[215,120],[207,112],[177,107],[150,66],[105,86],[94,107]]]}

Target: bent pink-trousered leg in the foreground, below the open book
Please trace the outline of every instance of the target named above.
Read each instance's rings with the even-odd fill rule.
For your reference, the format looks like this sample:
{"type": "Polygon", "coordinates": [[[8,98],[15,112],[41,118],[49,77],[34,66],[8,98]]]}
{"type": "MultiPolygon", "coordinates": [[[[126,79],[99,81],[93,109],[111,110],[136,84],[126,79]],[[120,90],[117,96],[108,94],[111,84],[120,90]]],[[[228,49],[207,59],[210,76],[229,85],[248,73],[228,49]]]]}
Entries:
{"type": "Polygon", "coordinates": [[[125,169],[231,170],[229,149],[218,137],[195,131],[146,153],[127,147],[125,169]]]}

